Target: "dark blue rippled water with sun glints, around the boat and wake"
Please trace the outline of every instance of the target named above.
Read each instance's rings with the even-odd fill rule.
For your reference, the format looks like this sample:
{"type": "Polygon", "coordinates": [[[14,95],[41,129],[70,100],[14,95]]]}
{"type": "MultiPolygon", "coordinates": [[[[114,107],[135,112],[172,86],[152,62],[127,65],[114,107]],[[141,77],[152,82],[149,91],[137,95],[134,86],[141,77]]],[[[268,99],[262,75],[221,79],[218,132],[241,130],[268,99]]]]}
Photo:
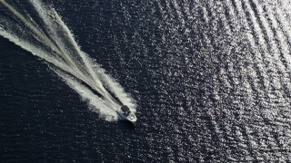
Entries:
{"type": "Polygon", "coordinates": [[[131,93],[138,121],[99,119],[0,37],[1,162],[290,161],[290,2],[45,4],[131,93]]]}

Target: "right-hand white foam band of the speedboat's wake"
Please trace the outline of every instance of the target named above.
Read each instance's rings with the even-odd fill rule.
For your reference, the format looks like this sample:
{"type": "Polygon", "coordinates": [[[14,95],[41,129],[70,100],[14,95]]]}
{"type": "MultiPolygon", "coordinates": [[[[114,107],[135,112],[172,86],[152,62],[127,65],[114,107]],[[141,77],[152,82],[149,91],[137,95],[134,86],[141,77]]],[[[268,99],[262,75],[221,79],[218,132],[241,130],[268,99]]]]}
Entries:
{"type": "Polygon", "coordinates": [[[57,40],[58,41],[57,43],[60,43],[59,44],[60,49],[64,53],[77,53],[77,55],[80,56],[81,60],[84,62],[83,65],[85,66],[85,71],[88,72],[90,75],[87,76],[87,78],[92,78],[88,84],[90,84],[91,87],[101,92],[101,94],[107,97],[106,99],[114,103],[115,106],[118,106],[118,104],[116,104],[115,101],[111,101],[112,97],[107,91],[105,91],[103,85],[106,85],[107,88],[115,94],[119,101],[121,101],[130,108],[135,108],[136,107],[135,101],[133,101],[132,98],[130,98],[130,96],[127,93],[125,93],[124,89],[119,85],[119,83],[114,82],[114,80],[109,75],[105,74],[105,71],[100,71],[102,70],[100,66],[92,62],[92,59],[90,59],[86,53],[80,51],[79,46],[75,43],[73,34],[65,26],[64,22],[61,20],[60,16],[56,14],[55,10],[47,8],[45,7],[45,5],[41,5],[39,2],[36,3],[36,1],[31,1],[31,3],[35,6],[36,11],[42,17],[42,19],[45,20],[45,25],[49,27],[48,28],[49,32],[54,38],[54,40],[57,40]],[[50,17],[54,17],[54,19],[50,19],[50,17]],[[55,24],[55,21],[57,24],[55,24]],[[55,29],[62,30],[62,34],[64,35],[62,37],[59,37],[59,33],[57,33],[55,29]],[[69,42],[69,44],[72,45],[71,47],[75,52],[71,51],[72,48],[66,49],[64,44],[65,41],[62,38],[66,38],[66,42],[69,42]],[[98,71],[96,72],[95,70],[98,71]]]}

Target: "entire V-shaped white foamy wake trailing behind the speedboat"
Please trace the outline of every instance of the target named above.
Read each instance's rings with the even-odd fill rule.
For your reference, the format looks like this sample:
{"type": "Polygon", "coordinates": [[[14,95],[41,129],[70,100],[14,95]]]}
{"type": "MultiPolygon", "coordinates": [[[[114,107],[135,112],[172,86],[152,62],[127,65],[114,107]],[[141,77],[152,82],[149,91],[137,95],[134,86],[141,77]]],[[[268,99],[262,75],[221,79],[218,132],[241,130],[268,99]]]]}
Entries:
{"type": "MultiPolygon", "coordinates": [[[[21,3],[17,3],[18,5],[21,3]]],[[[53,8],[30,0],[37,14],[0,0],[0,35],[43,59],[101,118],[117,120],[122,105],[135,113],[135,101],[122,86],[82,52],[73,34],[53,8]],[[115,99],[115,98],[117,99],[115,99]],[[120,101],[120,102],[119,102],[120,101]]]]}

